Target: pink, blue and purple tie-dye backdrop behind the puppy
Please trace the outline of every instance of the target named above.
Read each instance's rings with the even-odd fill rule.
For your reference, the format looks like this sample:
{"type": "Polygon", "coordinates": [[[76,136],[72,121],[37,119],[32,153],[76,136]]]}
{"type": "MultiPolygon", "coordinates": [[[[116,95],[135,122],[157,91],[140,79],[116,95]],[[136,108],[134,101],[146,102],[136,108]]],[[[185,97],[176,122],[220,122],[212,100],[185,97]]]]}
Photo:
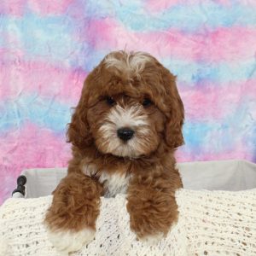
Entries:
{"type": "Polygon", "coordinates": [[[70,109],[113,49],[177,74],[179,161],[256,161],[255,0],[1,0],[0,32],[0,201],[22,169],[67,166],[70,109]]]}

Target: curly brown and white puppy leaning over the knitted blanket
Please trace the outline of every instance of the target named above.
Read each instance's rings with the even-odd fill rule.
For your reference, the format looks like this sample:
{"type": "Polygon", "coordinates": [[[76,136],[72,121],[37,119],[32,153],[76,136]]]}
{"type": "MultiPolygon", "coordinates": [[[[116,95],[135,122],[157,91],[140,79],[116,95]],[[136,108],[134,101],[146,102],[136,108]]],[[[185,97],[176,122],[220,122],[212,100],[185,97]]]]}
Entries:
{"type": "Polygon", "coordinates": [[[183,118],[175,77],[153,56],[116,51],[102,60],[85,79],[67,131],[73,158],[46,214],[55,247],[71,252],[90,242],[100,197],[118,193],[127,193],[138,239],[166,235],[182,187],[174,152],[183,118]]]}

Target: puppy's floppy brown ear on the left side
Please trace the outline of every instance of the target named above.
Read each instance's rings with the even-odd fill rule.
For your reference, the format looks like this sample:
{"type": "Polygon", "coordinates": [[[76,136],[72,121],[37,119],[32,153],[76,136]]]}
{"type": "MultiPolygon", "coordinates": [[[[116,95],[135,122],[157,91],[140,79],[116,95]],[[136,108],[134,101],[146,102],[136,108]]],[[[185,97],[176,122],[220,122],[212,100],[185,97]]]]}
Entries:
{"type": "Polygon", "coordinates": [[[67,143],[72,143],[73,146],[84,148],[91,143],[90,128],[87,122],[88,109],[88,90],[87,79],[84,81],[84,87],[79,100],[78,106],[75,108],[71,123],[67,129],[67,143]]]}

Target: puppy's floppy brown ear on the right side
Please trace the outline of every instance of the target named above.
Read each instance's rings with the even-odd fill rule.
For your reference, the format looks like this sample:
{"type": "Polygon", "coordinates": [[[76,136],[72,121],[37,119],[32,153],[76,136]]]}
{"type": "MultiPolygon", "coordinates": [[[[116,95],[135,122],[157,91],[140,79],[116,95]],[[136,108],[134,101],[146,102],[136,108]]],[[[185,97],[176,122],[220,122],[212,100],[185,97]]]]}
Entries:
{"type": "Polygon", "coordinates": [[[166,87],[166,101],[169,106],[169,114],[166,119],[166,143],[177,148],[183,145],[183,120],[184,108],[183,102],[178,94],[175,76],[166,68],[162,73],[163,83],[166,87]]]}

